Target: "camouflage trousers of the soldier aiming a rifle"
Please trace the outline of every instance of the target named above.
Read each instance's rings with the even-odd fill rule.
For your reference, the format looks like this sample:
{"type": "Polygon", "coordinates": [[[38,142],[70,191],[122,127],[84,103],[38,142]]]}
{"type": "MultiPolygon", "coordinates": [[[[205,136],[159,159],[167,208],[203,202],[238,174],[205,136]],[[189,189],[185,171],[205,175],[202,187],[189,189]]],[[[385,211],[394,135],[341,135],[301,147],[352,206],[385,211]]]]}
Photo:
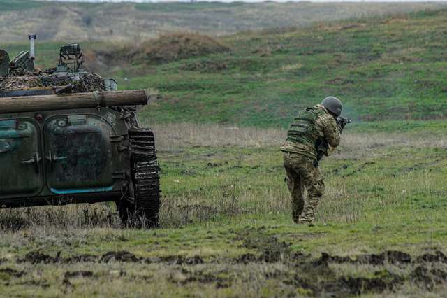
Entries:
{"type": "Polygon", "coordinates": [[[284,168],[287,187],[292,197],[293,221],[314,222],[315,208],[324,193],[323,174],[318,165],[314,165],[314,159],[292,152],[284,152],[284,168]]]}

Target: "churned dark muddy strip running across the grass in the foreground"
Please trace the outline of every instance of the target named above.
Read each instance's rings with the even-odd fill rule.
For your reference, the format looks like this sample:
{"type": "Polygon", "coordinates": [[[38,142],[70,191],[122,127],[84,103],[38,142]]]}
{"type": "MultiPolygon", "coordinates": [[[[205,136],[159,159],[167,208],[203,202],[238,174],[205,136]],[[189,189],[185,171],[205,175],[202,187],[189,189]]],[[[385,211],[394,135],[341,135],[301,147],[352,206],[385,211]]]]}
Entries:
{"type": "MultiPolygon", "coordinates": [[[[64,271],[61,271],[61,276],[55,281],[59,283],[59,288],[64,289],[63,292],[69,292],[76,287],[73,281],[80,278],[97,280],[101,271],[96,267],[110,264],[157,264],[168,269],[166,280],[177,287],[194,284],[219,290],[231,288],[236,283],[251,283],[253,278],[262,283],[274,281],[284,287],[277,293],[278,297],[354,297],[367,293],[392,295],[409,284],[430,293],[439,291],[439,287],[442,288],[447,283],[447,256],[439,250],[422,255],[388,250],[377,254],[349,256],[322,253],[320,257],[312,257],[293,252],[290,243],[268,235],[263,227],[242,229],[235,231],[233,235],[235,243],[242,243],[241,246],[252,253],[233,258],[204,259],[199,255],[139,257],[129,251],[71,256],[63,256],[63,252],[50,255],[45,251],[31,251],[22,257],[15,257],[14,260],[0,260],[0,284],[15,285],[15,280],[36,283],[35,278],[26,281],[27,276],[36,275],[36,272],[31,272],[34,271],[33,268],[45,265],[48,270],[56,266],[64,268],[64,271]],[[238,270],[243,267],[251,271],[251,274],[241,277],[238,270]]],[[[136,277],[135,273],[129,271],[129,267],[122,268],[124,269],[113,274],[114,278],[136,277]]],[[[45,276],[45,272],[41,274],[45,276]]],[[[151,278],[154,277],[145,276],[147,281],[151,278]]],[[[44,288],[52,286],[49,281],[36,285],[44,288]]]]}

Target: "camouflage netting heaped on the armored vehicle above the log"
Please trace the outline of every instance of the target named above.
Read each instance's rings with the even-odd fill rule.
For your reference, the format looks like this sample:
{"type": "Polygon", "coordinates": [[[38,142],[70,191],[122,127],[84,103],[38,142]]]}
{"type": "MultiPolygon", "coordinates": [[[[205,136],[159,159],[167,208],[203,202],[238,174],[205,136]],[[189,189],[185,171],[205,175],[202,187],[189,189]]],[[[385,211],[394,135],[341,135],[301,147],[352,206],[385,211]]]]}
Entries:
{"type": "Polygon", "coordinates": [[[96,73],[50,73],[43,71],[12,71],[0,77],[0,90],[31,88],[66,88],[66,92],[93,92],[105,90],[103,79],[96,73]]]}

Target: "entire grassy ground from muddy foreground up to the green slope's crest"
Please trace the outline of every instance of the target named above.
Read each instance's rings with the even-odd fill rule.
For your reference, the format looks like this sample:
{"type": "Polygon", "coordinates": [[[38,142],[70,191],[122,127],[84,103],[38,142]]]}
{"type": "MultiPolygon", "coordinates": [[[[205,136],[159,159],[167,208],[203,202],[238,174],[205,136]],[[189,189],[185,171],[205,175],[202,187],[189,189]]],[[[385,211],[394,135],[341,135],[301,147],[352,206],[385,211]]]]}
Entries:
{"type": "MultiPolygon", "coordinates": [[[[153,94],[139,118],[156,132],[161,228],[122,227],[113,204],[1,210],[0,296],[445,297],[446,21],[439,10],[245,31],[216,38],[228,51],[110,66],[122,44],[82,43],[105,77],[153,94]],[[321,164],[316,224],[295,225],[279,146],[328,94],[354,123],[321,164]]],[[[39,66],[58,46],[38,44],[39,66]]]]}

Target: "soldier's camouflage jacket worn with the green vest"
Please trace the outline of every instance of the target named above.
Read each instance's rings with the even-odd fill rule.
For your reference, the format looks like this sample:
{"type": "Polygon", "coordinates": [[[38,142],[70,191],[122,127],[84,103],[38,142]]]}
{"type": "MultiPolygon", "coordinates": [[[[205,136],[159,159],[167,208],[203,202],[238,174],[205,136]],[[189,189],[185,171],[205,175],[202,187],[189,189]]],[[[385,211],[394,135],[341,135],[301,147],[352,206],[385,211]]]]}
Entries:
{"type": "Polygon", "coordinates": [[[288,130],[288,138],[282,144],[281,151],[297,153],[316,159],[316,143],[318,140],[328,142],[329,146],[332,148],[339,146],[340,142],[340,129],[337,126],[335,118],[320,104],[298,114],[297,118],[295,118],[295,122],[292,123],[291,128],[288,130]],[[297,126],[297,123],[302,122],[300,119],[303,119],[303,115],[309,114],[306,113],[307,111],[312,111],[315,115],[315,119],[305,121],[308,123],[309,127],[303,129],[297,139],[291,138],[290,136],[293,127],[297,126]]]}

